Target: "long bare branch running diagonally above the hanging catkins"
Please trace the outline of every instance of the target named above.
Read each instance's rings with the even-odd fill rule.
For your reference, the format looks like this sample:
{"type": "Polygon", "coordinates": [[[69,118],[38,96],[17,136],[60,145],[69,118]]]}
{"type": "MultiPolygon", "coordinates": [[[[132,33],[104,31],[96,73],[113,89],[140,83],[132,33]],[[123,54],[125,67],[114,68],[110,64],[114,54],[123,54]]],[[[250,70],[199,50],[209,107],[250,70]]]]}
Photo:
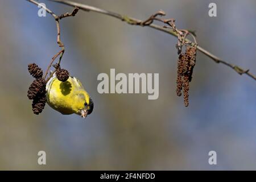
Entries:
{"type": "MultiPolygon", "coordinates": [[[[88,11],[88,12],[89,11],[94,11],[96,13],[105,14],[105,15],[112,16],[114,18],[120,19],[120,20],[122,20],[122,21],[124,21],[128,24],[131,24],[131,25],[137,25],[137,26],[142,26],[142,27],[147,26],[147,27],[151,27],[151,28],[154,28],[156,30],[159,30],[159,31],[166,32],[167,34],[171,34],[172,36],[176,36],[177,38],[179,37],[179,35],[175,31],[172,31],[172,30],[168,29],[167,27],[162,27],[162,26],[158,26],[157,24],[153,24],[153,19],[152,18],[155,18],[155,20],[157,20],[157,18],[154,17],[154,15],[152,15],[149,19],[147,19],[145,21],[142,21],[142,20],[135,19],[135,18],[132,18],[132,17],[127,16],[127,15],[114,13],[112,11],[100,9],[98,7],[85,5],[85,4],[82,4],[82,3],[76,3],[76,2],[72,2],[72,1],[66,1],[66,0],[49,0],[49,1],[63,3],[65,5],[69,5],[69,6],[73,6],[73,7],[79,7],[79,9],[84,10],[84,11],[88,11]]],[[[162,11],[160,11],[160,12],[162,12],[162,11]]],[[[158,15],[164,15],[164,13],[162,12],[158,15]]],[[[189,39],[185,39],[185,41],[186,42],[191,42],[189,39]]],[[[254,80],[256,80],[256,76],[253,75],[252,73],[250,73],[249,69],[243,69],[238,65],[228,63],[227,61],[224,61],[224,60],[220,59],[219,57],[213,55],[212,53],[210,53],[209,51],[205,50],[204,48],[202,48],[200,46],[197,46],[197,50],[200,51],[201,53],[203,53],[204,55],[208,56],[213,61],[215,61],[215,63],[222,63],[222,64],[232,68],[238,74],[240,74],[240,75],[245,74],[245,75],[253,78],[254,80]]]]}

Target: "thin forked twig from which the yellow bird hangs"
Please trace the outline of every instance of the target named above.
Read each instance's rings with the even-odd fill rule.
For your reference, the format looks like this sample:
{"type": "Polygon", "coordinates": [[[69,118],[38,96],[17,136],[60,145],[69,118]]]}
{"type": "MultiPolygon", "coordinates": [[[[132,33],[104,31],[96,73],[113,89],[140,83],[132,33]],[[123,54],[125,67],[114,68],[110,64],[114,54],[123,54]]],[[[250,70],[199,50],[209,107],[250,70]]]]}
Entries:
{"type": "MultiPolygon", "coordinates": [[[[46,79],[46,76],[48,75],[48,72],[49,72],[49,69],[51,68],[53,62],[55,61],[55,59],[59,56],[59,62],[58,64],[60,64],[60,61],[63,57],[63,54],[65,52],[65,46],[64,44],[61,42],[60,40],[60,22],[59,20],[62,19],[62,18],[66,18],[68,16],[75,16],[77,14],[77,12],[79,11],[79,7],[75,7],[75,9],[73,10],[73,12],[71,14],[69,13],[65,13],[65,14],[61,14],[59,16],[57,16],[55,13],[53,13],[53,11],[49,10],[47,7],[43,6],[40,2],[38,1],[35,1],[35,0],[26,0],[28,2],[31,2],[31,3],[34,3],[35,5],[39,6],[39,7],[42,7],[44,10],[46,10],[47,13],[51,14],[52,17],[55,19],[55,22],[56,22],[56,28],[57,28],[57,44],[59,45],[59,47],[61,48],[61,50],[56,53],[56,55],[54,55],[52,57],[52,60],[51,62],[49,63],[48,67],[47,67],[47,70],[46,70],[46,73],[44,75],[44,79],[46,79]]],[[[56,71],[56,69],[55,69],[56,71]]],[[[55,73],[55,71],[53,73],[55,73]]],[[[46,82],[49,80],[49,78],[52,77],[53,73],[48,77],[48,79],[46,80],[46,82]]]]}

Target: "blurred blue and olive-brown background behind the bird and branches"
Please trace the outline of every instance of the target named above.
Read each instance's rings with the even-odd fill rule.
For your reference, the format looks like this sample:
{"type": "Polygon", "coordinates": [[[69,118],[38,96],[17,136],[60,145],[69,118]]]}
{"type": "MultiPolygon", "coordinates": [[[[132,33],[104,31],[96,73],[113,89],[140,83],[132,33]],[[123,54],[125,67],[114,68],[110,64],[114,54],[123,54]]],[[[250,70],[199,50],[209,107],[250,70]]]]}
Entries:
{"type": "MultiPolygon", "coordinates": [[[[75,0],[74,0],[75,1],[75,0]]],[[[41,1],[55,14],[72,12],[41,1]]],[[[76,1],[138,19],[158,10],[181,29],[196,30],[201,47],[256,74],[256,1],[76,1]],[[217,17],[208,16],[210,2],[217,17]]],[[[27,64],[44,70],[59,51],[52,16],[24,0],[0,0],[0,169],[256,169],[256,82],[197,54],[189,107],[176,96],[176,38],[109,16],[79,13],[61,20],[62,67],[94,101],[85,120],[48,105],[31,110],[27,64]],[[99,73],[159,73],[159,98],[99,94],[99,73]],[[38,151],[47,165],[38,165],[38,151]],[[217,165],[208,152],[217,152],[217,165]]]]}

